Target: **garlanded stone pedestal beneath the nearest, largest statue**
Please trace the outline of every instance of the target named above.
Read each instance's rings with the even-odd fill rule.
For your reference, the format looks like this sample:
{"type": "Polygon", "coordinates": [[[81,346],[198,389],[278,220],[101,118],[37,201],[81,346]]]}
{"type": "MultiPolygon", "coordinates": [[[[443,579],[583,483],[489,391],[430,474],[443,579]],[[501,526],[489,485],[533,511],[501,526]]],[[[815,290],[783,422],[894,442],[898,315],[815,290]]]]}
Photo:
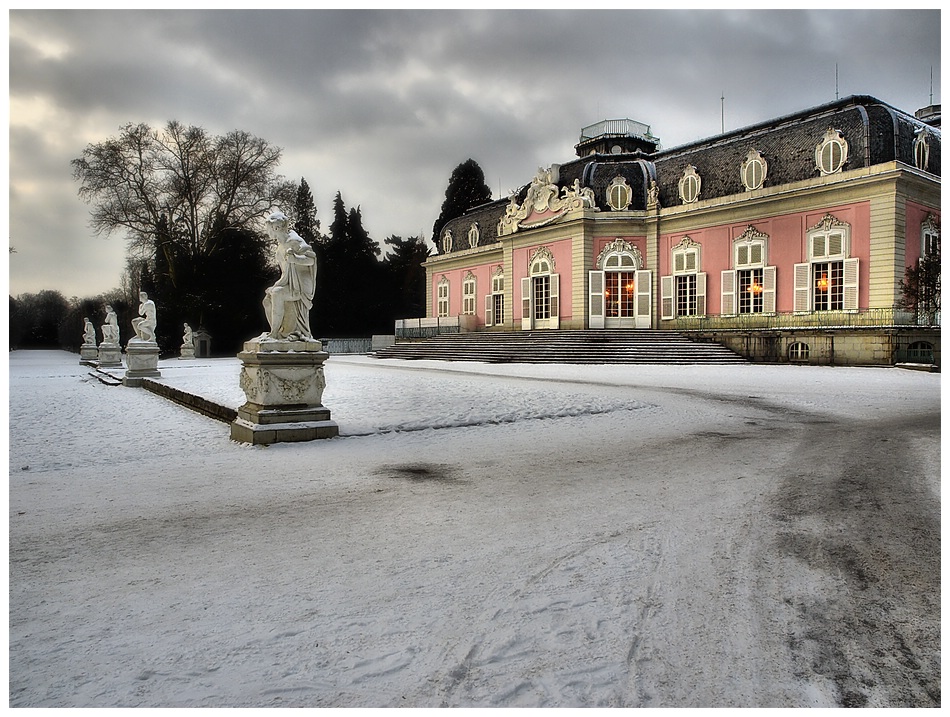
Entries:
{"type": "Polygon", "coordinates": [[[319,341],[246,342],[238,358],[247,403],[231,423],[231,439],[269,444],[339,435],[322,403],[328,357],[319,341]]]}

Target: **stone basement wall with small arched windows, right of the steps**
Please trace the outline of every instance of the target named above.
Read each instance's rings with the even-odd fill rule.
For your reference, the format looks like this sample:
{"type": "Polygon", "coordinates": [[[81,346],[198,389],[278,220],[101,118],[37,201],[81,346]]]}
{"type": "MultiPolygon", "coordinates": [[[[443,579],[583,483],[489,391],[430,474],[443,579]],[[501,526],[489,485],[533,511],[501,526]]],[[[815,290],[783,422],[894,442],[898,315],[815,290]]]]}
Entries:
{"type": "Polygon", "coordinates": [[[715,341],[750,361],[831,366],[893,366],[902,362],[940,365],[939,327],[879,327],[789,330],[684,331],[695,341],[715,341]],[[933,347],[931,356],[909,351],[933,347]],[[932,359],[932,360],[931,360],[932,359]]]}

